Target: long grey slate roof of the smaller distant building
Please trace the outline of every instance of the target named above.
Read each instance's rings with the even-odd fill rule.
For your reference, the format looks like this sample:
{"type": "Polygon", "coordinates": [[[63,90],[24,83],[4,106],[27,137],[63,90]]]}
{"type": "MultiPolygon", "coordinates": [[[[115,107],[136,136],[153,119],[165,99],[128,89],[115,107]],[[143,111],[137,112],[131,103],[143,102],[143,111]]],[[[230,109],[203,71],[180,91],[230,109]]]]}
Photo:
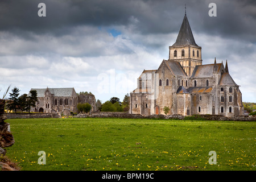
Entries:
{"type": "MultiPolygon", "coordinates": [[[[38,97],[44,97],[44,92],[46,92],[47,88],[44,89],[35,89],[32,88],[31,90],[36,90],[38,93],[38,97]]],[[[71,97],[74,88],[48,88],[51,94],[54,94],[55,97],[71,97]]],[[[28,94],[30,96],[30,93],[28,94]]]]}

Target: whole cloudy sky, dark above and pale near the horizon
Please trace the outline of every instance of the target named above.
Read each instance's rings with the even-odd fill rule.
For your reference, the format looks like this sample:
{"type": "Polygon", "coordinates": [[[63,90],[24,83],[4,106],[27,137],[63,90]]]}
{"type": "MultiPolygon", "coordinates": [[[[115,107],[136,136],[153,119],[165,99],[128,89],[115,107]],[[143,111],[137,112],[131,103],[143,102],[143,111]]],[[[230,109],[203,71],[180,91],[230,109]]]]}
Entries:
{"type": "Polygon", "coordinates": [[[123,100],[143,69],[158,69],[175,43],[184,5],[203,64],[228,60],[245,102],[256,102],[256,1],[1,0],[0,96],[9,85],[73,87],[123,100]],[[38,16],[39,3],[46,17],[38,16]],[[209,3],[217,16],[210,17],[209,3]]]}

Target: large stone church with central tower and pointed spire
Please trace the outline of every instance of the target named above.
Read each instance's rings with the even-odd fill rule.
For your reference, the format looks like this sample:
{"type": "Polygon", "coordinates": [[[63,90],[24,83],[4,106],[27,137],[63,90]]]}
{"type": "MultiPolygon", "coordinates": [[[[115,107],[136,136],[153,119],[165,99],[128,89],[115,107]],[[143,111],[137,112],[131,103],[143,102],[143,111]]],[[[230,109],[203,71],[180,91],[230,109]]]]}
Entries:
{"type": "Polygon", "coordinates": [[[229,75],[228,63],[202,64],[201,47],[193,38],[185,14],[169,59],[158,69],[144,70],[130,93],[132,114],[243,115],[242,93],[229,75]]]}

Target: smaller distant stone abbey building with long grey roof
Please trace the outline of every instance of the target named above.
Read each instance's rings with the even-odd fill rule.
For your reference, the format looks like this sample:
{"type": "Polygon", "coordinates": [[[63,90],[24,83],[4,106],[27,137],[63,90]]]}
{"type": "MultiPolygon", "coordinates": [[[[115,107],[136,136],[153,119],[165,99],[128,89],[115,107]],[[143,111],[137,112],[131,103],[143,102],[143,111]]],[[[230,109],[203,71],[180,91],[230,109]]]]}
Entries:
{"type": "MultiPolygon", "coordinates": [[[[77,95],[74,88],[42,88],[34,89],[38,93],[38,102],[31,108],[32,112],[61,113],[69,115],[77,113],[77,104],[88,102],[92,111],[96,111],[96,99],[93,94],[77,95]]],[[[29,94],[28,94],[29,96],[29,94]]]]}

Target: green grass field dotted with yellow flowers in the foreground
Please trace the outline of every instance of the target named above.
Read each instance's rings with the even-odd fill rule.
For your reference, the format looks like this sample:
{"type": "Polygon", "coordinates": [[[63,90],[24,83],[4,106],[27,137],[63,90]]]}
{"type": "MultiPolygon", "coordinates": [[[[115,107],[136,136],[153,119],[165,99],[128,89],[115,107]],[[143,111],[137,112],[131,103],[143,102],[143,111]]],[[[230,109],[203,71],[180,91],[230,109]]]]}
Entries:
{"type": "Polygon", "coordinates": [[[256,122],[7,119],[22,170],[254,170],[256,122]],[[46,164],[39,165],[39,151],[46,164]],[[217,154],[210,165],[209,152],[217,154]]]}

